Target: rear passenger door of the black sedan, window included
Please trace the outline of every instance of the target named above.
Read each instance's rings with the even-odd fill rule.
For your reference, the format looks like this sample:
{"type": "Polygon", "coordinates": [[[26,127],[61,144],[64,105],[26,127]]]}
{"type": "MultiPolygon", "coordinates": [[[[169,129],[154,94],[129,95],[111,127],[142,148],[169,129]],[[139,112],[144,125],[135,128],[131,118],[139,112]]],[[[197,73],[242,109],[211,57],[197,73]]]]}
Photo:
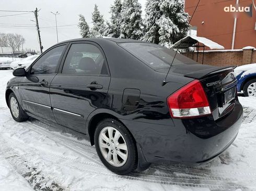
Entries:
{"type": "Polygon", "coordinates": [[[57,123],[85,133],[88,115],[106,103],[110,75],[97,44],[74,42],[68,49],[51,82],[51,104],[57,123]]]}

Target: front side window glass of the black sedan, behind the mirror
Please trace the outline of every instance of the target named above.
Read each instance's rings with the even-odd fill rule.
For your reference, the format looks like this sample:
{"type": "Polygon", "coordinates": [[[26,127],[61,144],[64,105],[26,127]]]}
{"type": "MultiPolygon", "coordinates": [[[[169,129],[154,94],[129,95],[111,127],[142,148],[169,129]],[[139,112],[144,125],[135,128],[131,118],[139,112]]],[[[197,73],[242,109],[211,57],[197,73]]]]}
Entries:
{"type": "Polygon", "coordinates": [[[32,66],[30,74],[54,74],[59,63],[61,55],[64,51],[65,45],[58,46],[45,53],[32,66]]]}

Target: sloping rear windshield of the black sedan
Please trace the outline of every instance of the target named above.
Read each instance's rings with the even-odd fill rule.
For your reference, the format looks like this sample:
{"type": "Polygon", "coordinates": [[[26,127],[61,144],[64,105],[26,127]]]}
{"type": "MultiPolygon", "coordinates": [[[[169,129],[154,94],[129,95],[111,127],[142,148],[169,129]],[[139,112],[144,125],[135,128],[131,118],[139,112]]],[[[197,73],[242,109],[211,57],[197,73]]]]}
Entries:
{"type": "MultiPolygon", "coordinates": [[[[151,43],[119,43],[129,53],[143,61],[152,69],[168,68],[175,56],[174,50],[151,43]]],[[[196,63],[194,60],[177,54],[172,66],[196,63]]]]}

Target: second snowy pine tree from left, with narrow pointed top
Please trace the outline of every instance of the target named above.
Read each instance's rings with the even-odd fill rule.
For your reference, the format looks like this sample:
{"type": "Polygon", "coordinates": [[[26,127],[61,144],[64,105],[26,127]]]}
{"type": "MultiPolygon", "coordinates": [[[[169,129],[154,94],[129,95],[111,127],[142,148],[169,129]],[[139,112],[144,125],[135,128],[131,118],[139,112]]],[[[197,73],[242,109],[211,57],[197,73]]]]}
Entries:
{"type": "Polygon", "coordinates": [[[92,27],[91,30],[91,37],[102,37],[106,26],[104,24],[103,15],[100,14],[100,11],[98,9],[98,6],[95,4],[94,12],[92,12],[92,23],[94,24],[94,27],[92,27]]]}

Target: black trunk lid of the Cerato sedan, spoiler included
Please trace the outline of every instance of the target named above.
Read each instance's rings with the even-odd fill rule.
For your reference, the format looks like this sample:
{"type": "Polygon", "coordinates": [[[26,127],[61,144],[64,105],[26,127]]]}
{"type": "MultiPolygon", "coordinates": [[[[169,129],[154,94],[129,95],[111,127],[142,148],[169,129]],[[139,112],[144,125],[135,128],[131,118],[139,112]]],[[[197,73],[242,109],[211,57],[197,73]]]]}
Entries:
{"type": "Polygon", "coordinates": [[[230,113],[236,101],[235,67],[214,67],[199,64],[174,65],[170,74],[200,80],[213,114],[219,120],[230,113]]]}

